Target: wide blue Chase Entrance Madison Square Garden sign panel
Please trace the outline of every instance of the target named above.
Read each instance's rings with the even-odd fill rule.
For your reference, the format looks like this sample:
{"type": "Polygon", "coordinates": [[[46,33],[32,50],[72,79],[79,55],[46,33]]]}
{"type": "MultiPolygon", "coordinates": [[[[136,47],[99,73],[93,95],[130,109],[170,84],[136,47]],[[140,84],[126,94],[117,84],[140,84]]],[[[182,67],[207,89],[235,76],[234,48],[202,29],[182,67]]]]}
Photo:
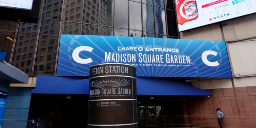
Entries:
{"type": "Polygon", "coordinates": [[[136,76],[232,78],[224,41],[61,35],[57,76],[89,76],[103,63],[133,65],[136,76]]]}

